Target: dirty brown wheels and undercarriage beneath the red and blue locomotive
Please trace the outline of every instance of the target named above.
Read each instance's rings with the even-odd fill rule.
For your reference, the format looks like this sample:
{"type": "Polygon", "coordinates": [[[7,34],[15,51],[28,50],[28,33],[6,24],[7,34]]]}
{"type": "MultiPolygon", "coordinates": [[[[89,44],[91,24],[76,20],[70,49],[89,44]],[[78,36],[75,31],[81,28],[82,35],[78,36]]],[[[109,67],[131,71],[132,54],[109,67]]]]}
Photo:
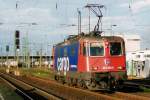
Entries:
{"type": "Polygon", "coordinates": [[[126,80],[126,72],[107,73],[67,73],[68,76],[55,75],[60,83],[88,88],[89,90],[109,90],[121,87],[126,80]]]}

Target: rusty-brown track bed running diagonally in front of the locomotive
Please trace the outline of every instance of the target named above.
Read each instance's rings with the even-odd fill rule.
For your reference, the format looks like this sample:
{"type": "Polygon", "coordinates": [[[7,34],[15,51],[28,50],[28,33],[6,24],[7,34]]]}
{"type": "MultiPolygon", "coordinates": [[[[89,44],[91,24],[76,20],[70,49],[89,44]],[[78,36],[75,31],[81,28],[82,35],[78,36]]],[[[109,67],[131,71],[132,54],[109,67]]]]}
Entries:
{"type": "MultiPolygon", "coordinates": [[[[6,76],[8,77],[8,75],[6,76]]],[[[149,97],[123,92],[102,93],[87,91],[79,88],[68,87],[66,85],[56,83],[55,81],[41,79],[38,77],[14,77],[25,83],[28,82],[34,88],[39,88],[47,93],[54,94],[56,97],[59,97],[58,99],[62,100],[150,100],[149,97]]],[[[43,95],[43,97],[45,96],[43,95]]]]}

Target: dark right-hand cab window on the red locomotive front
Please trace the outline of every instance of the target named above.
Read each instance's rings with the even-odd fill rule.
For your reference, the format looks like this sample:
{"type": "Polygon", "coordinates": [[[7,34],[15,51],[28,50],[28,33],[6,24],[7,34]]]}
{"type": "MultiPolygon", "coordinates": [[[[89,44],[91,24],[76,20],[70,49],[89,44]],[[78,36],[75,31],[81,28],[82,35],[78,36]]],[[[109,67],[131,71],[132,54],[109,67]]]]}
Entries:
{"type": "Polygon", "coordinates": [[[122,54],[122,47],[120,42],[111,42],[110,43],[110,54],[112,56],[117,56],[122,54]]]}

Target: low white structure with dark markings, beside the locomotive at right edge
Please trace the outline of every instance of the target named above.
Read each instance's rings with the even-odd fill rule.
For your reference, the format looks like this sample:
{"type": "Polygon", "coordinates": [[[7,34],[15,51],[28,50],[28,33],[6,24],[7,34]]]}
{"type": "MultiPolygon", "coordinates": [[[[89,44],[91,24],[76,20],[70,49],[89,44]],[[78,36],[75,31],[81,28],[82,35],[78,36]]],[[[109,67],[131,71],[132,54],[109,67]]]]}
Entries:
{"type": "Polygon", "coordinates": [[[128,53],[127,75],[138,78],[150,78],[150,50],[128,53]]]}

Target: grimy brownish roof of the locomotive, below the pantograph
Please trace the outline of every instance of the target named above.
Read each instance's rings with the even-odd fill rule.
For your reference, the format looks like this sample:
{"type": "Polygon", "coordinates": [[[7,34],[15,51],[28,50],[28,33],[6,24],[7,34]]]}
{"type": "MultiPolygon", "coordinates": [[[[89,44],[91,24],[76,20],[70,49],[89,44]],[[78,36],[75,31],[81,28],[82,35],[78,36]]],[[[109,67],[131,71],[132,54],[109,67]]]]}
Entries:
{"type": "Polygon", "coordinates": [[[61,46],[65,44],[71,44],[78,41],[123,41],[122,37],[119,36],[101,36],[101,35],[91,35],[91,34],[80,34],[80,35],[71,35],[69,38],[65,39],[63,42],[56,44],[56,46],[61,46]]]}

